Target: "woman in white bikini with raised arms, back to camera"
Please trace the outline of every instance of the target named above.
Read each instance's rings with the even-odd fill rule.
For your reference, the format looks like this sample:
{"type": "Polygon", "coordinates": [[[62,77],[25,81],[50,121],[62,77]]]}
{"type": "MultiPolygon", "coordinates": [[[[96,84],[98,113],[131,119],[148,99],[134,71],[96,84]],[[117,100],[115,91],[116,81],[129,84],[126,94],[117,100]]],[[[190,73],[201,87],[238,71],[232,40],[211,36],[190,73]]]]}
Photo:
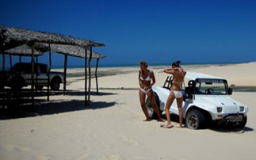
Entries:
{"type": "Polygon", "coordinates": [[[171,86],[171,92],[168,96],[166,105],[165,105],[165,114],[167,116],[167,126],[163,128],[171,128],[171,116],[170,116],[170,107],[173,103],[173,100],[176,98],[178,110],[179,110],[179,117],[180,117],[180,127],[183,124],[183,111],[182,111],[182,102],[183,102],[183,92],[182,86],[184,83],[184,76],[186,75],[186,71],[183,71],[183,68],[180,67],[180,61],[173,62],[172,68],[167,68],[163,70],[165,73],[173,75],[173,84],[171,86]]]}

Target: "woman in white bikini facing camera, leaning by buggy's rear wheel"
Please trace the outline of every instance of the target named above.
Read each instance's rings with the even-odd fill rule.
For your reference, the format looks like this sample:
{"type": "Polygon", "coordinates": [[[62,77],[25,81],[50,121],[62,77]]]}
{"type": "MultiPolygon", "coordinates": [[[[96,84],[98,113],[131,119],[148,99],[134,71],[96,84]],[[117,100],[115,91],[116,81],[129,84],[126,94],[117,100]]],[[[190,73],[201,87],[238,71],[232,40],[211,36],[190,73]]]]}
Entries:
{"type": "Polygon", "coordinates": [[[159,108],[157,107],[157,103],[155,103],[155,98],[152,91],[152,86],[155,84],[154,73],[151,70],[147,70],[148,65],[146,61],[139,62],[139,65],[141,67],[141,70],[139,70],[139,101],[141,102],[142,111],[146,116],[146,119],[144,121],[151,121],[151,119],[149,118],[149,113],[147,113],[145,103],[147,95],[147,97],[149,97],[149,100],[155,113],[157,113],[159,121],[164,122],[164,120],[160,116],[160,111],[159,108]]]}

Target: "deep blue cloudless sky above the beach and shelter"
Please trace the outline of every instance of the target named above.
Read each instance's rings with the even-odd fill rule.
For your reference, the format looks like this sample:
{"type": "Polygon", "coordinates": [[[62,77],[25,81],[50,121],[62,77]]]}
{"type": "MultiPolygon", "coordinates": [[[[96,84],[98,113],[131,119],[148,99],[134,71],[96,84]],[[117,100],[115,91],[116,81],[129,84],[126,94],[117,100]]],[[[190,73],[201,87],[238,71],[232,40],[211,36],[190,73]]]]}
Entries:
{"type": "Polygon", "coordinates": [[[0,25],[102,42],[100,65],[256,61],[255,0],[1,0],[0,15],[0,25]]]}

